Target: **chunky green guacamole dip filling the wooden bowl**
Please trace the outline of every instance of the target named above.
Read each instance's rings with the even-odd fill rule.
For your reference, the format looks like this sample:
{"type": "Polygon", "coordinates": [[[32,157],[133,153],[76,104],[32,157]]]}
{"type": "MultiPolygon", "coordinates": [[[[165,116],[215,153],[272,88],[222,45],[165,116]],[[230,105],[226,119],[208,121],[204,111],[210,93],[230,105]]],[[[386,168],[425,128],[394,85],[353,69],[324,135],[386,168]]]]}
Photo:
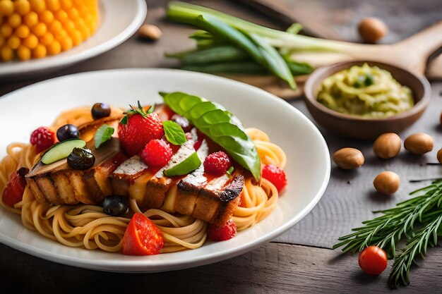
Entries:
{"type": "Polygon", "coordinates": [[[414,105],[412,91],[377,66],[352,66],[326,78],[316,98],[329,109],[366,118],[385,118],[414,105]]]}

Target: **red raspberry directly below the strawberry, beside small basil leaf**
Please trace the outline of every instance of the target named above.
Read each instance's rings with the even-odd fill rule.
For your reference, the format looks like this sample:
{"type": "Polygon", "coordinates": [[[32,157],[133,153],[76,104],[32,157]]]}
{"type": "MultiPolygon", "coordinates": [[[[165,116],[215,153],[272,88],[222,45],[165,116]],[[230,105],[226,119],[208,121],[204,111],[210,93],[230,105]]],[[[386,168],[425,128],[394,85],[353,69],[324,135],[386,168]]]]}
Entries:
{"type": "Polygon", "coordinates": [[[162,167],[172,158],[172,148],[163,140],[151,140],[141,152],[141,159],[148,166],[162,167]]]}

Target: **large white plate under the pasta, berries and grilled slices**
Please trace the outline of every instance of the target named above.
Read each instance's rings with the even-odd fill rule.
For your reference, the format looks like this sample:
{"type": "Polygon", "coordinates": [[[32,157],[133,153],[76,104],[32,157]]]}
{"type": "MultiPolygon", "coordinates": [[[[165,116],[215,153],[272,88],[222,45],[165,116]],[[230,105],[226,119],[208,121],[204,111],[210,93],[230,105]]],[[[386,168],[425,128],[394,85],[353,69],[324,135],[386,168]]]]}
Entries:
{"type": "Polygon", "coordinates": [[[287,153],[289,185],[272,214],[234,238],[196,250],[155,256],[66,247],[28,231],[16,214],[0,209],[0,242],[62,264],[119,272],[154,272],[196,267],[252,250],[302,219],[323,195],[330,176],[328,147],[301,112],[256,87],[214,75],[169,69],[124,69],[67,75],[24,87],[0,99],[0,157],[8,142],[28,142],[30,133],[49,125],[61,111],[108,102],[116,105],[161,102],[159,91],[183,91],[224,105],[245,127],[264,130],[287,153]]]}

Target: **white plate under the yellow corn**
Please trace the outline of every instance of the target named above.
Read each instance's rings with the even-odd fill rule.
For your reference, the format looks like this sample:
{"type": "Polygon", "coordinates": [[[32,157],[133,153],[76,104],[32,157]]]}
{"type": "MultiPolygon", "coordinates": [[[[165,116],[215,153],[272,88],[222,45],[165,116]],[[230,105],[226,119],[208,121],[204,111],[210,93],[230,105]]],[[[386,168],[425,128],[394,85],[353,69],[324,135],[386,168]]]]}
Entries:
{"type": "Polygon", "coordinates": [[[99,4],[100,25],[92,37],[72,49],[44,59],[0,63],[1,78],[26,78],[47,73],[102,54],[133,35],[143,23],[145,0],[102,0],[99,4]]]}

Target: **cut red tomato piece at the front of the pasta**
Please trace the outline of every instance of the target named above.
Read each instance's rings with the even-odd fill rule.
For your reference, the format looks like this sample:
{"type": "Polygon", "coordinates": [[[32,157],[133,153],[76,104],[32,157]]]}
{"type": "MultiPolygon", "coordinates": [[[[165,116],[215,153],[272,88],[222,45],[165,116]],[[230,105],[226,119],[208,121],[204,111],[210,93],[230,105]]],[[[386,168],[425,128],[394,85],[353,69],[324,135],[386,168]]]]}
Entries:
{"type": "Polygon", "coordinates": [[[133,214],[124,232],[125,255],[157,255],[165,244],[159,228],[144,214],[133,214]]]}

